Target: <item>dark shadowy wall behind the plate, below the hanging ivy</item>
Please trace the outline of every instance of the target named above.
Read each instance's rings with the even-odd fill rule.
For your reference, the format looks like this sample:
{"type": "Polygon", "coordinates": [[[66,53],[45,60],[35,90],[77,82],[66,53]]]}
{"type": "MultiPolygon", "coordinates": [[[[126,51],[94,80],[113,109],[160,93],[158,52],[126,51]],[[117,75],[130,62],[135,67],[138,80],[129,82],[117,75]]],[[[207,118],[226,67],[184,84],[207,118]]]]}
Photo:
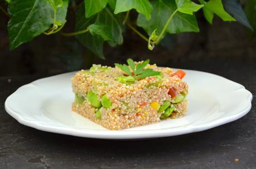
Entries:
{"type": "MultiPolygon", "coordinates": [[[[6,8],[3,1],[0,5],[6,8]]],[[[202,13],[197,15],[200,33],[168,35],[153,51],[149,51],[146,42],[127,28],[122,46],[104,47],[105,60],[94,57],[74,37],[60,34],[41,35],[9,51],[8,19],[0,11],[0,76],[62,73],[88,68],[92,63],[111,66],[129,57],[136,61],[150,58],[151,63],[160,66],[188,62],[256,62],[256,38],[249,36],[247,28],[236,22],[223,22],[216,16],[214,24],[210,25],[202,13]]],[[[71,10],[67,21],[69,26],[64,31],[71,32],[74,25],[71,10]]]]}

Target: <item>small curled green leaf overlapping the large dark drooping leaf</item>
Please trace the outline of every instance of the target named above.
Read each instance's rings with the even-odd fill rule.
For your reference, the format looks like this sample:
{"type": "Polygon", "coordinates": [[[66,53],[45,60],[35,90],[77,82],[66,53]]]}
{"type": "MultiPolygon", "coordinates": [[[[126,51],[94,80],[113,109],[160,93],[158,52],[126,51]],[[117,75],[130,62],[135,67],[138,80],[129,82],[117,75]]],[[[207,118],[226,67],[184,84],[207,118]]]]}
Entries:
{"type": "Polygon", "coordinates": [[[104,24],[91,24],[88,28],[92,35],[98,34],[104,41],[111,39],[110,29],[104,24]]]}

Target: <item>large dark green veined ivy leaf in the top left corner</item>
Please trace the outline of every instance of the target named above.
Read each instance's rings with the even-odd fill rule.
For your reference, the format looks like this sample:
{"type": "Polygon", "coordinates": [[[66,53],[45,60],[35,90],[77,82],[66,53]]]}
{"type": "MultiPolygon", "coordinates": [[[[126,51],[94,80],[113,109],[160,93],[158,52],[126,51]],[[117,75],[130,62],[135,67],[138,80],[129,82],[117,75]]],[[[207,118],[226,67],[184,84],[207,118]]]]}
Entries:
{"type": "Polygon", "coordinates": [[[31,41],[53,23],[54,9],[47,0],[11,1],[8,11],[12,15],[8,22],[10,49],[31,41]]]}

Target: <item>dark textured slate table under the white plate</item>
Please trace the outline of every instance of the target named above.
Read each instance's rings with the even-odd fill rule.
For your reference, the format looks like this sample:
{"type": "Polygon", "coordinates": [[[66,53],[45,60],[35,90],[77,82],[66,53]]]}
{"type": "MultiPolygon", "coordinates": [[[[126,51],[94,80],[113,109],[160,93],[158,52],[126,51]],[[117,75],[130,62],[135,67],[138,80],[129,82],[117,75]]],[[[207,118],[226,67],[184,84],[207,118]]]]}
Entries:
{"type": "MultiPolygon", "coordinates": [[[[219,74],[256,93],[255,63],[169,66],[219,74]]],[[[7,96],[40,77],[0,78],[0,168],[256,168],[255,100],[248,115],[211,130],[146,141],[95,140],[38,131],[6,113],[7,96]]]]}

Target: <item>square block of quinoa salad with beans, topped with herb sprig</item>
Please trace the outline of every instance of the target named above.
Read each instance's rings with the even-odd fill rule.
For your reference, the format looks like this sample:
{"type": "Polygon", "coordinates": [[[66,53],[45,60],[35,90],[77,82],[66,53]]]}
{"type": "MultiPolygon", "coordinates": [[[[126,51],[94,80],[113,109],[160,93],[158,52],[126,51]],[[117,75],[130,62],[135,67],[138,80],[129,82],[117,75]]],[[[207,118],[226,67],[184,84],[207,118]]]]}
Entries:
{"type": "MultiPolygon", "coordinates": [[[[72,110],[109,130],[180,118],[187,112],[186,75],[181,69],[127,60],[115,67],[94,64],[71,79],[72,110]]],[[[170,121],[171,122],[171,121],[170,121]]]]}

